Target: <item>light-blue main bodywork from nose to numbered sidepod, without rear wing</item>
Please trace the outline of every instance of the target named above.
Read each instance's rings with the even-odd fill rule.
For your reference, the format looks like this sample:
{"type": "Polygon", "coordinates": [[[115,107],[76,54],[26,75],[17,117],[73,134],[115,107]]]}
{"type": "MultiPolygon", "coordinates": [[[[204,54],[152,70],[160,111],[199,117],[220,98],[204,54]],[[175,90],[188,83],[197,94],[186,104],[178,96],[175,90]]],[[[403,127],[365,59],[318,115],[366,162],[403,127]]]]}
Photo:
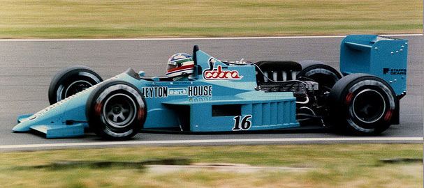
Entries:
{"type": "MultiPolygon", "coordinates": [[[[180,128],[192,132],[224,132],[299,126],[295,120],[293,93],[256,91],[253,65],[226,65],[200,50],[196,52],[196,56],[202,74],[194,74],[188,79],[138,79],[124,72],[108,80],[126,81],[142,92],[147,103],[147,118],[143,126],[145,129],[180,128]],[[216,107],[218,111],[222,111],[222,105],[240,113],[215,116],[212,109],[216,107]]],[[[31,116],[20,116],[13,131],[36,130],[46,134],[47,138],[83,135],[81,127],[88,127],[85,105],[89,95],[99,85],[87,88],[31,116]]]]}

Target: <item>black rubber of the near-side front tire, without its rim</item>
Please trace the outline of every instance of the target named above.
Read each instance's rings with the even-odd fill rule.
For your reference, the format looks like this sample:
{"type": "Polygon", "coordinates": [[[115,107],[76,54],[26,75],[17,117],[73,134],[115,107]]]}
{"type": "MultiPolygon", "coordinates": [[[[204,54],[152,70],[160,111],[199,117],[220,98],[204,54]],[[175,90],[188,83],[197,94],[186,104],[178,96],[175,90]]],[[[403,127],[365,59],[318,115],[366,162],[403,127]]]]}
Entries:
{"type": "Polygon", "coordinates": [[[142,128],[147,114],[147,106],[141,92],[125,81],[106,81],[92,91],[86,105],[89,127],[105,139],[125,140],[136,135],[142,128]],[[135,105],[133,119],[123,127],[114,127],[105,116],[105,102],[114,95],[126,95],[135,105]],[[135,114],[134,114],[135,113],[135,114]]]}

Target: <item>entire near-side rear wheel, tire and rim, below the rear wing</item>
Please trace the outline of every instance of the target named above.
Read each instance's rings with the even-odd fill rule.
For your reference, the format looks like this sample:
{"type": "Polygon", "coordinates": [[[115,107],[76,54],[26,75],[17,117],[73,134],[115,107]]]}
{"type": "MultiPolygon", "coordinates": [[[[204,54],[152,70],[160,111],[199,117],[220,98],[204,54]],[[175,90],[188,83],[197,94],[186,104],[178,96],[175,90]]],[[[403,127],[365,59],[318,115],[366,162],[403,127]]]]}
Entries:
{"type": "Polygon", "coordinates": [[[346,134],[370,136],[390,127],[397,109],[393,88],[379,77],[352,74],[332,87],[328,97],[329,119],[346,134]]]}

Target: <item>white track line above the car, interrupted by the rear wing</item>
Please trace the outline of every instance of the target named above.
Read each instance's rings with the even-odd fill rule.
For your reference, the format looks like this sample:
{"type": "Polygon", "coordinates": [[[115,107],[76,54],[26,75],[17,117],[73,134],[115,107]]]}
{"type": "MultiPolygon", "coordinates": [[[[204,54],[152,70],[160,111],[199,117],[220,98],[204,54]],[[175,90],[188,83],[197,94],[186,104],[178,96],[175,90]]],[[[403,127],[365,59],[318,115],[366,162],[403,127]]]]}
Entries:
{"type": "MultiPolygon", "coordinates": [[[[423,36],[416,34],[388,34],[388,37],[423,36]]],[[[127,41],[127,40],[249,40],[249,39],[295,39],[295,38],[344,38],[346,36],[270,36],[270,37],[216,37],[216,38],[34,38],[34,39],[0,39],[0,42],[47,42],[47,41],[127,41]]]]}

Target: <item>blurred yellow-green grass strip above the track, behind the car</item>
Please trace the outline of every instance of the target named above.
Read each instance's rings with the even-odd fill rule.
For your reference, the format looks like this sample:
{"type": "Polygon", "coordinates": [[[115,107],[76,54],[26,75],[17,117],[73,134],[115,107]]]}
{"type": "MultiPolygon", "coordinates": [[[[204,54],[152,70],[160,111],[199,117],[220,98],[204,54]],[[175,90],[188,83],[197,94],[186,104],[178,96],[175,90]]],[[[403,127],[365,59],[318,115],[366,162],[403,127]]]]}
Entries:
{"type": "Polygon", "coordinates": [[[422,33],[421,0],[0,0],[0,38],[422,33]]]}

